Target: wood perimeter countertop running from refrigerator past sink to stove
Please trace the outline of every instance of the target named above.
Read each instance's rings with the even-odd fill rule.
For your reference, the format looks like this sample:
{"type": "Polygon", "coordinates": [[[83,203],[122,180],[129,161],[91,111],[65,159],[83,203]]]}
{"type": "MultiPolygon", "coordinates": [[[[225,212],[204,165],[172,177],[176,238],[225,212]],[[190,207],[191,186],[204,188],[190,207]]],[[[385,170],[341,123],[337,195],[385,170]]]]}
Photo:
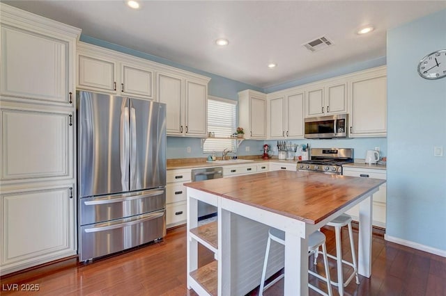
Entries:
{"type": "MultiPolygon", "coordinates": [[[[238,158],[244,159],[244,158],[238,158]]],[[[179,170],[179,169],[191,169],[191,168],[200,168],[200,167],[223,167],[225,165],[242,165],[249,163],[291,163],[297,165],[298,161],[285,161],[278,158],[270,158],[265,160],[263,158],[247,158],[247,161],[237,161],[234,163],[219,163],[208,162],[206,158],[183,158],[182,160],[167,160],[167,170],[179,170]]]]}

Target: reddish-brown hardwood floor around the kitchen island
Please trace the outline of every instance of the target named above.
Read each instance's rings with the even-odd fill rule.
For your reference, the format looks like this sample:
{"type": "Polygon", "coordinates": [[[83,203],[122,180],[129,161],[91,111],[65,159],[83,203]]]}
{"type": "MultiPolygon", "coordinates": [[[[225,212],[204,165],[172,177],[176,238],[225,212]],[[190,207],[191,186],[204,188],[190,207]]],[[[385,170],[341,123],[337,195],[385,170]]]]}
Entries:
{"type": "MultiPolygon", "coordinates": [[[[334,231],[324,228],[328,252],[335,253],[334,231]]],[[[93,263],[77,263],[76,258],[36,270],[1,278],[1,295],[197,295],[186,288],[186,229],[167,232],[164,241],[134,249],[93,263]],[[14,286],[17,284],[17,286],[14,286]],[[38,287],[38,292],[12,291],[38,287]]],[[[360,276],[360,285],[352,281],[346,295],[446,295],[446,258],[403,247],[374,233],[372,276],[360,276]]],[[[348,234],[342,232],[344,256],[348,252],[348,234]]],[[[355,231],[357,245],[357,232],[355,231]]],[[[321,261],[319,256],[318,262],[321,261]]],[[[199,264],[213,259],[207,249],[199,249],[199,264]]],[[[310,268],[314,269],[311,264],[310,268]]],[[[323,270],[323,264],[316,265],[323,270]]],[[[346,269],[346,272],[348,270],[346,269]]],[[[334,261],[330,275],[336,278],[334,261]]],[[[313,283],[317,282],[310,278],[313,283]]],[[[321,283],[321,288],[325,286],[321,283]]],[[[283,280],[264,295],[282,295],[283,280]]],[[[318,295],[312,290],[310,295],[318,295]]],[[[257,295],[254,289],[250,296],[257,295]]],[[[334,295],[338,295],[334,289],[334,295]]]]}

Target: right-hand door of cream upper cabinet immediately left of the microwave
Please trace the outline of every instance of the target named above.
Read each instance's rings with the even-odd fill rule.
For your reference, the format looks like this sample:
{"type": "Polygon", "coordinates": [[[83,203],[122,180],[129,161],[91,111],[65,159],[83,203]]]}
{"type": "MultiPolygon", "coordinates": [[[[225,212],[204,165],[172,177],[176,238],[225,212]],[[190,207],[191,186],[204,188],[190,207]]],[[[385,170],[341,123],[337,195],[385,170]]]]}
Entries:
{"type": "Polygon", "coordinates": [[[288,108],[286,113],[289,138],[303,138],[304,136],[304,93],[288,96],[288,108]]]}

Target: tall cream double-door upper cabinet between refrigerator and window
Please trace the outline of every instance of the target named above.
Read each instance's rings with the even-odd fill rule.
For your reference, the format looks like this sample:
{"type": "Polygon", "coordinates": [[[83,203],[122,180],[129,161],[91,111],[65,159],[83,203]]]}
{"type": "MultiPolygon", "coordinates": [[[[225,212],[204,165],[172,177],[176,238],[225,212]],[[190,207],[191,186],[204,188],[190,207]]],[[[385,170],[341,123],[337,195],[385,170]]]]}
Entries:
{"type": "Polygon", "coordinates": [[[173,72],[157,72],[157,100],[167,104],[167,135],[206,137],[208,81],[173,72]]]}

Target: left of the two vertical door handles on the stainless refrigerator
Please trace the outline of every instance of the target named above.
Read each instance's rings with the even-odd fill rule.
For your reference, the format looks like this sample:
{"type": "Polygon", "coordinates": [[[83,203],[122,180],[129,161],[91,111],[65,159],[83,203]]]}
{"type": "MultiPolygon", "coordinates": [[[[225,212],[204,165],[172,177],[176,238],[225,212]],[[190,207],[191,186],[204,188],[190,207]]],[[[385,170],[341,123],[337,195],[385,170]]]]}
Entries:
{"type": "Polygon", "coordinates": [[[129,180],[129,172],[128,167],[130,165],[130,126],[129,126],[129,113],[128,107],[125,107],[121,112],[121,130],[120,130],[120,165],[121,165],[121,184],[123,190],[129,190],[128,180],[129,180]]]}

